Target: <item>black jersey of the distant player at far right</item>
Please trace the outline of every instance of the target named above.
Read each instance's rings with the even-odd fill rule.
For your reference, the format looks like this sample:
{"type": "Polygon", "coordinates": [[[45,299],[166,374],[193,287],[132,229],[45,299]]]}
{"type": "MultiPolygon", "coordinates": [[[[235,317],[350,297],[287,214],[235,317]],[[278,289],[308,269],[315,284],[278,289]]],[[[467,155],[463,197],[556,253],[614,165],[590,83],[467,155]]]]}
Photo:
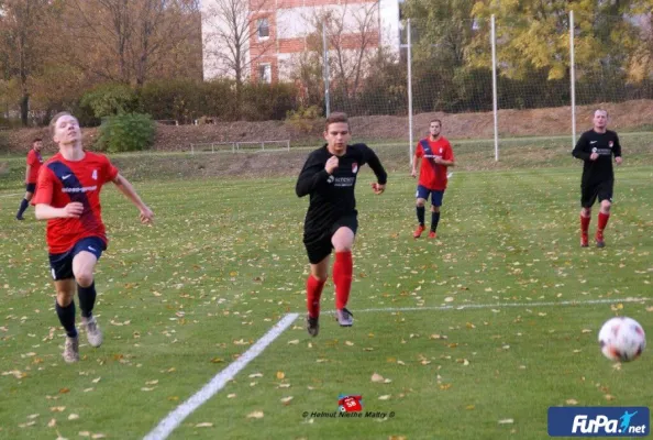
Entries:
{"type": "Polygon", "coordinates": [[[572,154],[585,162],[583,185],[593,185],[615,178],[612,156],[621,156],[621,144],[617,133],[611,130],[606,130],[605,133],[589,130],[580,135],[572,154]],[[599,156],[596,161],[589,160],[591,153],[598,153],[599,156]]]}

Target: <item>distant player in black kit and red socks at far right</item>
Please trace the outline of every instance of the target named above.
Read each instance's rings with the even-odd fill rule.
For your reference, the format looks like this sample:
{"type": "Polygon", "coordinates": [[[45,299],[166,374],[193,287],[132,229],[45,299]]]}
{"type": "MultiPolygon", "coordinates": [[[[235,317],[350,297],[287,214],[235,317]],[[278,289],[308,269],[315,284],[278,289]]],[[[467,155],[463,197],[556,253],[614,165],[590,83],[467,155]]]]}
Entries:
{"type": "Polygon", "coordinates": [[[612,169],[612,156],[620,165],[621,144],[617,133],[607,130],[608,112],[598,109],[594,112],[594,129],[583,133],[572,154],[574,157],[585,162],[583,166],[583,178],[580,184],[580,245],[588,246],[587,231],[591,220],[591,207],[598,198],[600,211],[598,215],[598,227],[596,229],[596,245],[604,248],[604,230],[610,218],[612,206],[612,188],[615,186],[615,172],[612,169]]]}

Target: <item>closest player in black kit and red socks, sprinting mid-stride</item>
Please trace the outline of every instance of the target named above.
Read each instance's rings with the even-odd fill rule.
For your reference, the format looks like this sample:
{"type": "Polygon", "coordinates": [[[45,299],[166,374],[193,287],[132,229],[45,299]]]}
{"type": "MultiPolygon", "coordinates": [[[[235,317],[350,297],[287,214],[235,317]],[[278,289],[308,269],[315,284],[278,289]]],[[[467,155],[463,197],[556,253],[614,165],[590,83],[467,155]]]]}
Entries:
{"type": "Polygon", "coordinates": [[[377,182],[372,185],[376,194],[386,188],[387,174],[372,148],[365,144],[347,145],[351,140],[346,114],[332,113],[324,130],[326,144],[307,158],[296,191],[298,197],[310,195],[303,226],[303,244],[311,264],[307,280],[307,330],[318,336],[320,296],[329,276],[329,257],[335,250],[333,284],[335,285],[335,314],[342,327],[354,323],[346,309],[352,287],[352,245],[358,229],[354,188],[358,170],[365,164],[374,170],[377,182]]]}

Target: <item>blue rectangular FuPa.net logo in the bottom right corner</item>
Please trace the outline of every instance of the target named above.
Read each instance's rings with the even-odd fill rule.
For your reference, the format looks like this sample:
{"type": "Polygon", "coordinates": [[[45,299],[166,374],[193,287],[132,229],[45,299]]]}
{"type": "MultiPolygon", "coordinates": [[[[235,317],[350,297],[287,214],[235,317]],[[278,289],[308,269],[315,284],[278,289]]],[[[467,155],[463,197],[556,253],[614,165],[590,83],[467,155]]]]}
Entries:
{"type": "Polygon", "coordinates": [[[551,407],[551,437],[646,437],[651,416],[646,407],[551,407]]]}

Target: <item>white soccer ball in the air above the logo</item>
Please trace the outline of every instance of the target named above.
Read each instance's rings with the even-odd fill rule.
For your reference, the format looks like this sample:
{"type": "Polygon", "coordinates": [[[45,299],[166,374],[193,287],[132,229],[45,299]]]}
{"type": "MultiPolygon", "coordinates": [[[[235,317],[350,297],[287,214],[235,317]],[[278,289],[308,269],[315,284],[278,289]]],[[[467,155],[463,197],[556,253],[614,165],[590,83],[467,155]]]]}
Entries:
{"type": "Polygon", "coordinates": [[[632,318],[617,317],[604,323],[599,331],[601,352],[610,361],[630,362],[646,346],[644,329],[632,318]]]}

